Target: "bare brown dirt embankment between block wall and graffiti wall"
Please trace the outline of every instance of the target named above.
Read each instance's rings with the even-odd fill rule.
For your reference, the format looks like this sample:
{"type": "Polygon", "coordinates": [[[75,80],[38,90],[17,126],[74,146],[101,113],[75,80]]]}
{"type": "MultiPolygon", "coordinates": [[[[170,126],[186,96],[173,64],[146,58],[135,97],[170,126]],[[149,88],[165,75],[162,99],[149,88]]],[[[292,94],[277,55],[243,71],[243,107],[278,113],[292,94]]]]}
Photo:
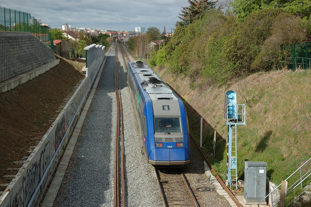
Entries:
{"type": "MultiPolygon", "coordinates": [[[[63,98],[84,78],[85,64],[63,59],[38,77],[0,94],[0,183],[13,161],[30,154],[57,117],[63,98]]],[[[0,191],[3,189],[0,189],[0,191]]]]}

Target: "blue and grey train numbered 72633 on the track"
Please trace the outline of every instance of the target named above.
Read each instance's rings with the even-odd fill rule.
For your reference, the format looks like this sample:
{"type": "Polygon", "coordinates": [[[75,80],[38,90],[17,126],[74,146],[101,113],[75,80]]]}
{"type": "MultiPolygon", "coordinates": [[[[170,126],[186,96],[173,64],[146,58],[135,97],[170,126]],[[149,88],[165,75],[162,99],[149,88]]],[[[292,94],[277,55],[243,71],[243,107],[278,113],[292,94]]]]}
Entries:
{"type": "Polygon", "coordinates": [[[148,163],[165,168],[188,164],[189,130],[183,101],[142,61],[128,63],[127,80],[148,163]]]}

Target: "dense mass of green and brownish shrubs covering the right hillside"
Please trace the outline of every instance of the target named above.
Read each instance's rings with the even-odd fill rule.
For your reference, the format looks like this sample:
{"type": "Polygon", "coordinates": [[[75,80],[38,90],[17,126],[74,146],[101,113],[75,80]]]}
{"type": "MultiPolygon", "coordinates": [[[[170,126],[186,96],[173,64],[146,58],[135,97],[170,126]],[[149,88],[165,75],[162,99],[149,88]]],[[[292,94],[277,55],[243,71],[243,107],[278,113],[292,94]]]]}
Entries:
{"type": "MultiPolygon", "coordinates": [[[[211,10],[176,28],[164,48],[166,63],[172,73],[188,75],[192,87],[224,85],[235,76],[280,68],[281,44],[305,42],[310,22],[281,8],[259,9],[243,22],[211,10]]],[[[153,65],[159,62],[157,55],[153,65]]]]}

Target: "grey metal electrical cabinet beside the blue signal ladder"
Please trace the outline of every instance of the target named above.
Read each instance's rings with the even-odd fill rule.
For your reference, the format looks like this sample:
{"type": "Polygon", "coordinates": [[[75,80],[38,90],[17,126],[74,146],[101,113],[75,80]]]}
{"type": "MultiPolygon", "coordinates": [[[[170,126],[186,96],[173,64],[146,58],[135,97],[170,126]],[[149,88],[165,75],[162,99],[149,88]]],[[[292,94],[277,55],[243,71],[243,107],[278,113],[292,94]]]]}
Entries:
{"type": "Polygon", "coordinates": [[[244,162],[244,200],[261,201],[266,197],[266,162],[244,162]]]}

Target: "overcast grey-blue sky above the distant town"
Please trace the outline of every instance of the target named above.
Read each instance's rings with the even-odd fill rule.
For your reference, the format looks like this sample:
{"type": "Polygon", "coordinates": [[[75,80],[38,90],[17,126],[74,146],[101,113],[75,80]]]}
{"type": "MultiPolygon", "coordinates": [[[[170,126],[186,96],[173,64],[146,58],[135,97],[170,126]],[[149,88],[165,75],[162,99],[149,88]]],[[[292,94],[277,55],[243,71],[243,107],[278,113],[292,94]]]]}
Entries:
{"type": "Polygon", "coordinates": [[[52,28],[72,27],[134,31],[155,26],[166,32],[175,28],[187,0],[5,0],[2,7],[30,13],[52,28]]]}

